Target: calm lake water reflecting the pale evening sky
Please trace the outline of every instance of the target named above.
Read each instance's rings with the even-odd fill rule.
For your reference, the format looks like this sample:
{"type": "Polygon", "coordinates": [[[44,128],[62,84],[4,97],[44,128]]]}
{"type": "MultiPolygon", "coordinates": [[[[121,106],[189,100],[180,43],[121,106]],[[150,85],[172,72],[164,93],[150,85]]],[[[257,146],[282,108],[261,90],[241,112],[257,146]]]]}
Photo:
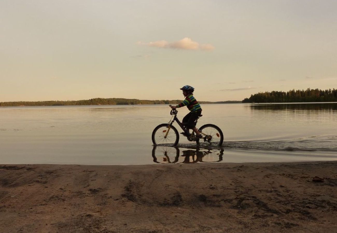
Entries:
{"type": "MultiPolygon", "coordinates": [[[[196,147],[183,136],[177,148],[154,147],[151,133],[171,119],[168,105],[0,107],[0,164],[337,160],[337,103],[202,108],[197,127],[219,126],[221,148],[196,147]]],[[[188,109],[178,110],[182,120],[188,109]]]]}

